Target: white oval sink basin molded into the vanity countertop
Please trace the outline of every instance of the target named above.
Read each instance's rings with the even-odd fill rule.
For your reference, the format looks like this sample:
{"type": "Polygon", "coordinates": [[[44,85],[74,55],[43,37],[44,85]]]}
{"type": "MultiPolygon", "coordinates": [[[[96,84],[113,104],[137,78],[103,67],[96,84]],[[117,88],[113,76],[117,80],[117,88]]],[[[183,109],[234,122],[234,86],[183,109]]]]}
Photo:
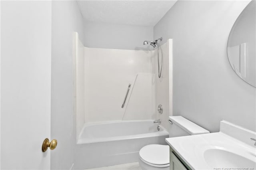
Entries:
{"type": "Polygon", "coordinates": [[[222,149],[208,149],[204,151],[206,163],[214,168],[254,168],[256,169],[256,157],[252,160],[236,153],[222,149]],[[254,160],[254,161],[253,161],[254,160]]]}

